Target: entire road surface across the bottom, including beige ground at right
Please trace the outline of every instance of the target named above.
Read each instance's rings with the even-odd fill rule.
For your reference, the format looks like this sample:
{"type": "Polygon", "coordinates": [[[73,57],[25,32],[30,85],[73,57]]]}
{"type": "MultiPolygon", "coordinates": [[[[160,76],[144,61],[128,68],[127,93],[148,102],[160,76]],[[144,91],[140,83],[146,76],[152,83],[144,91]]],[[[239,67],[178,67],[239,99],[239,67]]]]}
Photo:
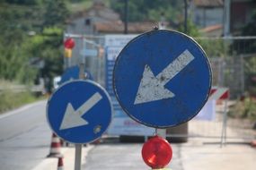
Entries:
{"type": "MultiPolygon", "coordinates": [[[[45,116],[46,101],[22,107],[18,111],[0,115],[0,169],[31,170],[40,163],[53,160],[50,168],[57,169],[57,159],[48,159],[51,132],[45,116]]],[[[210,123],[210,122],[208,122],[210,123]]],[[[193,124],[191,124],[192,126],[193,124]]],[[[198,124],[196,127],[203,129],[198,124]]],[[[191,130],[193,128],[191,127],[191,130]]],[[[212,141],[213,139],[208,139],[212,141]]],[[[219,139],[216,139],[219,141],[219,139]]],[[[190,139],[188,143],[172,143],[172,170],[254,170],[255,149],[248,145],[204,144],[206,139],[190,139]],[[243,157],[241,157],[243,156],[243,157]],[[241,164],[243,163],[243,164],[241,164]]],[[[119,143],[118,139],[96,145],[83,157],[85,170],[141,170],[150,169],[143,162],[142,143],[119,143]]],[[[64,165],[73,169],[74,148],[66,148],[64,165]],[[68,151],[69,150],[69,151],[68,151]]],[[[48,166],[48,165],[46,165],[48,166]]]]}

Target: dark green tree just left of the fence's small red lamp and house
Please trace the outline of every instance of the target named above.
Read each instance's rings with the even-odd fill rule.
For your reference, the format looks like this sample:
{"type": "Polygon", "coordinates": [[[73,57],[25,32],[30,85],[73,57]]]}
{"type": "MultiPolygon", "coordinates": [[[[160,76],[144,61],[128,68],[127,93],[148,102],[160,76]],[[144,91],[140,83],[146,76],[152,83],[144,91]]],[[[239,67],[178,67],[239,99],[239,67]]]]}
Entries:
{"type": "Polygon", "coordinates": [[[51,89],[53,77],[61,74],[63,68],[63,31],[69,11],[66,7],[66,0],[46,0],[45,9],[43,30],[40,35],[43,41],[38,47],[41,52],[40,58],[45,61],[45,67],[41,73],[43,77],[50,80],[49,89],[51,89]]]}

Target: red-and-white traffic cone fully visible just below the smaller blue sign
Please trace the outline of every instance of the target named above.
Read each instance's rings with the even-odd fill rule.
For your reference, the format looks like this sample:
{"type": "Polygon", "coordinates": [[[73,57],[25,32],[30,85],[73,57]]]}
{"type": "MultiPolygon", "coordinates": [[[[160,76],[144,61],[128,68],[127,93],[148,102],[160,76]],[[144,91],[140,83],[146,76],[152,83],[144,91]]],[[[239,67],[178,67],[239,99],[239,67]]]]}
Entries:
{"type": "Polygon", "coordinates": [[[60,140],[55,133],[52,133],[49,155],[47,157],[63,157],[60,153],[60,140]]]}

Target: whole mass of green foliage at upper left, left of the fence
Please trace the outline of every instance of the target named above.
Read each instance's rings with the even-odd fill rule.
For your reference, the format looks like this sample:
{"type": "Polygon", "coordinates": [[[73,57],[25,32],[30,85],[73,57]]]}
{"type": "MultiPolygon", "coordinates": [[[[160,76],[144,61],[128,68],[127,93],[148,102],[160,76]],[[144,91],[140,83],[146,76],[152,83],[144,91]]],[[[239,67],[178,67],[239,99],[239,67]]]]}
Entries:
{"type": "Polygon", "coordinates": [[[31,83],[62,71],[66,1],[0,1],[0,79],[31,83]],[[33,36],[30,36],[33,35],[33,36]],[[42,69],[31,65],[44,61],[42,69]]]}

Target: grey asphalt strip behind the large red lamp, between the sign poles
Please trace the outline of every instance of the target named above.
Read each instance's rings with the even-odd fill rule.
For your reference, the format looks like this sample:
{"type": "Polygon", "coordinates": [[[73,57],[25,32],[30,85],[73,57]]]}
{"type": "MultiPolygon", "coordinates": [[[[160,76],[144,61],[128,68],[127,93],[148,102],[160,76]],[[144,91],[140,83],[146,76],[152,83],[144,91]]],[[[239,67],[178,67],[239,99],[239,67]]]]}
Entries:
{"type": "MultiPolygon", "coordinates": [[[[86,170],[141,170],[151,169],[141,157],[143,143],[119,143],[111,141],[96,145],[86,157],[82,169],[86,170]]],[[[172,145],[172,160],[166,168],[183,170],[181,164],[181,145],[172,145]]]]}

